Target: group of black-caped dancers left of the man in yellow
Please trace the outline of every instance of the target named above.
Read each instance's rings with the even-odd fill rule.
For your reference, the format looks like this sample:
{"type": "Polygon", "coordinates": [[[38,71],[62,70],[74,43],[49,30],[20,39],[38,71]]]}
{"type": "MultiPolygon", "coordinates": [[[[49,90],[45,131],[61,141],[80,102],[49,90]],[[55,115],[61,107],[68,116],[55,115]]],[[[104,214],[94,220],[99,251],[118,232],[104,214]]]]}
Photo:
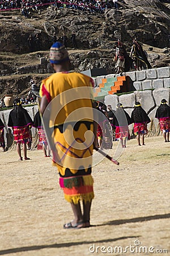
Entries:
{"type": "MultiPolygon", "coordinates": [[[[32,142],[32,127],[37,128],[39,144],[42,146],[44,156],[49,157],[50,150],[46,141],[45,131],[41,125],[41,117],[39,111],[36,113],[34,119],[32,120],[27,110],[23,108],[22,101],[20,101],[18,98],[15,98],[13,105],[14,109],[12,109],[9,114],[7,126],[12,127],[14,142],[16,144],[16,151],[19,155],[19,161],[30,160],[30,158],[27,157],[27,148],[32,142]],[[23,149],[23,156],[21,149],[23,149]]],[[[3,151],[5,151],[4,127],[5,125],[0,118],[0,146],[3,148],[3,151]]]]}

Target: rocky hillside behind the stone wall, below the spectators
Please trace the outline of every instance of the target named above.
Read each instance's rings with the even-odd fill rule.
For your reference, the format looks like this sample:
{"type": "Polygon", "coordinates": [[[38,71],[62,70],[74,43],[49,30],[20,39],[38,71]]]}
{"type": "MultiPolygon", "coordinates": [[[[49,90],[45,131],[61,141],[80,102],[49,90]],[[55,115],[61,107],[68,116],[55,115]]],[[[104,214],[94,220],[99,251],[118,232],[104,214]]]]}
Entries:
{"type": "MultiPolygon", "coordinates": [[[[164,1],[168,2],[168,1],[164,1]]],[[[0,95],[22,93],[29,88],[34,77],[39,84],[42,77],[36,73],[20,75],[21,67],[38,65],[40,57],[48,59],[52,35],[69,38],[68,50],[73,69],[105,67],[114,73],[114,42],[120,39],[130,51],[134,37],[143,44],[152,67],[169,65],[170,59],[170,4],[158,0],[119,1],[119,9],[107,9],[104,14],[73,9],[48,9],[31,12],[25,18],[20,11],[0,12],[0,67],[6,72],[1,76],[0,95]],[[76,32],[78,49],[73,49],[70,36],[76,32]],[[30,52],[28,36],[40,35],[40,49],[30,52]],[[153,47],[152,51],[148,48],[153,47]]]]}

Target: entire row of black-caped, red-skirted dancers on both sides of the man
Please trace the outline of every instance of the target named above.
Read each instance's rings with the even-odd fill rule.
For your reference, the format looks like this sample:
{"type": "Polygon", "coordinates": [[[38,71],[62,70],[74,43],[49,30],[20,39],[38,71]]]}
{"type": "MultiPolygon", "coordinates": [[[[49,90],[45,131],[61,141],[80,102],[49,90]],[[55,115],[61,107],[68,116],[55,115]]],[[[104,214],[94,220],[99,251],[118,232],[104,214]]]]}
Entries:
{"type": "MultiPolygon", "coordinates": [[[[167,101],[163,99],[159,108],[156,110],[155,118],[159,120],[160,130],[163,133],[165,142],[169,142],[170,131],[170,107],[167,101]]],[[[96,102],[96,109],[99,110],[97,125],[97,142],[101,150],[112,148],[113,141],[120,141],[121,147],[126,147],[126,142],[130,139],[128,126],[134,123],[133,132],[137,137],[138,146],[145,145],[145,135],[148,133],[147,124],[151,122],[140,102],[135,102],[134,110],[130,115],[125,111],[121,103],[117,104],[117,110],[114,111],[111,105],[104,105],[102,102],[96,102]]],[[[39,144],[42,146],[45,157],[50,156],[50,150],[46,140],[45,131],[42,127],[40,112],[38,111],[32,121],[27,110],[22,107],[22,102],[16,98],[14,100],[14,109],[11,110],[8,117],[8,127],[12,127],[14,142],[19,160],[29,160],[27,157],[27,144],[31,143],[31,127],[37,128],[39,144]],[[23,154],[21,155],[21,144],[23,144],[23,154]]],[[[5,151],[4,123],[0,118],[0,147],[5,151]]]]}

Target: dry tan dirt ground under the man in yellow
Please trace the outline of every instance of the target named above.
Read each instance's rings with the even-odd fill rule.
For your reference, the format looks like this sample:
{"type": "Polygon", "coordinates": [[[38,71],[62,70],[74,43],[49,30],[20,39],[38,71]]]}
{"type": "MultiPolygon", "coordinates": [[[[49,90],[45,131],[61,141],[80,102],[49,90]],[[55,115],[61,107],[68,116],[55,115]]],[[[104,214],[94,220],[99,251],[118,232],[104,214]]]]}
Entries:
{"type": "Polygon", "coordinates": [[[103,159],[93,169],[92,226],[70,230],[63,224],[71,208],[50,159],[34,150],[19,162],[16,151],[1,151],[0,255],[170,255],[170,143],[160,136],[127,146],[120,166],[103,159]]]}

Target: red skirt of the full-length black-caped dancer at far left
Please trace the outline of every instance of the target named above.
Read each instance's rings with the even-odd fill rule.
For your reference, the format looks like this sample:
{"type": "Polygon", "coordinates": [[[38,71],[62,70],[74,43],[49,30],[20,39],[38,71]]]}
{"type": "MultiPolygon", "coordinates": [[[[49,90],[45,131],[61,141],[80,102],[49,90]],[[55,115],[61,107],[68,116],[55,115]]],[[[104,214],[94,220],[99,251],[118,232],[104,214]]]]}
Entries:
{"type": "Polygon", "coordinates": [[[27,126],[14,127],[14,142],[15,143],[28,143],[31,142],[31,137],[27,126]]]}

